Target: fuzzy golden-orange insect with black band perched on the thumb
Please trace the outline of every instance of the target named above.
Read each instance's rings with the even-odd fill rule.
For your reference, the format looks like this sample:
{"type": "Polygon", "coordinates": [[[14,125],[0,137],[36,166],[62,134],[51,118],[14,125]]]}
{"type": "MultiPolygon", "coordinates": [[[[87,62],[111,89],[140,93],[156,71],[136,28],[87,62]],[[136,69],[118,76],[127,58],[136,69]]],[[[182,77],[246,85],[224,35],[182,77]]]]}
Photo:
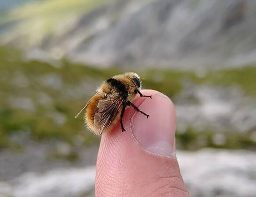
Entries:
{"type": "Polygon", "coordinates": [[[149,117],[132,103],[132,99],[139,94],[140,97],[151,96],[143,95],[141,92],[140,76],[136,73],[124,73],[116,75],[104,81],[96,90],[96,94],[88,101],[83,109],[76,114],[77,118],[86,109],[84,119],[87,127],[96,135],[100,135],[107,130],[111,130],[119,121],[122,131],[123,116],[126,106],[132,106],[135,110],[149,117]]]}

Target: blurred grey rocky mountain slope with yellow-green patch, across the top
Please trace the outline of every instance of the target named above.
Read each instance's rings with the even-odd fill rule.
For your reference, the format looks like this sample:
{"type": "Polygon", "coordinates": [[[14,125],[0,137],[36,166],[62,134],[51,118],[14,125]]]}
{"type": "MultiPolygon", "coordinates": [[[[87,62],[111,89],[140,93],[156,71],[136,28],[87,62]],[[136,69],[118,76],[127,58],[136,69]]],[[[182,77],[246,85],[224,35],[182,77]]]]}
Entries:
{"type": "Polygon", "coordinates": [[[100,66],[201,69],[256,63],[256,1],[63,2],[9,13],[0,23],[0,42],[25,48],[29,58],[65,57],[100,66]]]}

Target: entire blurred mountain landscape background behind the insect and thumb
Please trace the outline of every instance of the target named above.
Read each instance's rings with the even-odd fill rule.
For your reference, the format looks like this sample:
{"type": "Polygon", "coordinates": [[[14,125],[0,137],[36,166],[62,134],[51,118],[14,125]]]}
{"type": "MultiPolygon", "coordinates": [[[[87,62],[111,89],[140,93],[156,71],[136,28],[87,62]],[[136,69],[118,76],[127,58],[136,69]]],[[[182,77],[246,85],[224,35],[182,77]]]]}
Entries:
{"type": "Polygon", "coordinates": [[[0,196],[94,196],[74,115],[135,71],[177,109],[191,196],[256,194],[255,0],[0,0],[0,196]]]}

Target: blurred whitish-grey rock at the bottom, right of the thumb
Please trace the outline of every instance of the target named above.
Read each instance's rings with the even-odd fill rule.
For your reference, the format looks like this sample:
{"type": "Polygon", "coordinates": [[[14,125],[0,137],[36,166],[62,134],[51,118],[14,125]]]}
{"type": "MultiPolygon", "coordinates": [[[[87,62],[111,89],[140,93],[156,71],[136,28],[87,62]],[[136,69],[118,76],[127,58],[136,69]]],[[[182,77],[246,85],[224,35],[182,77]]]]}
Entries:
{"type": "Polygon", "coordinates": [[[191,196],[255,196],[254,152],[203,149],[194,153],[178,152],[177,157],[191,196]]]}

